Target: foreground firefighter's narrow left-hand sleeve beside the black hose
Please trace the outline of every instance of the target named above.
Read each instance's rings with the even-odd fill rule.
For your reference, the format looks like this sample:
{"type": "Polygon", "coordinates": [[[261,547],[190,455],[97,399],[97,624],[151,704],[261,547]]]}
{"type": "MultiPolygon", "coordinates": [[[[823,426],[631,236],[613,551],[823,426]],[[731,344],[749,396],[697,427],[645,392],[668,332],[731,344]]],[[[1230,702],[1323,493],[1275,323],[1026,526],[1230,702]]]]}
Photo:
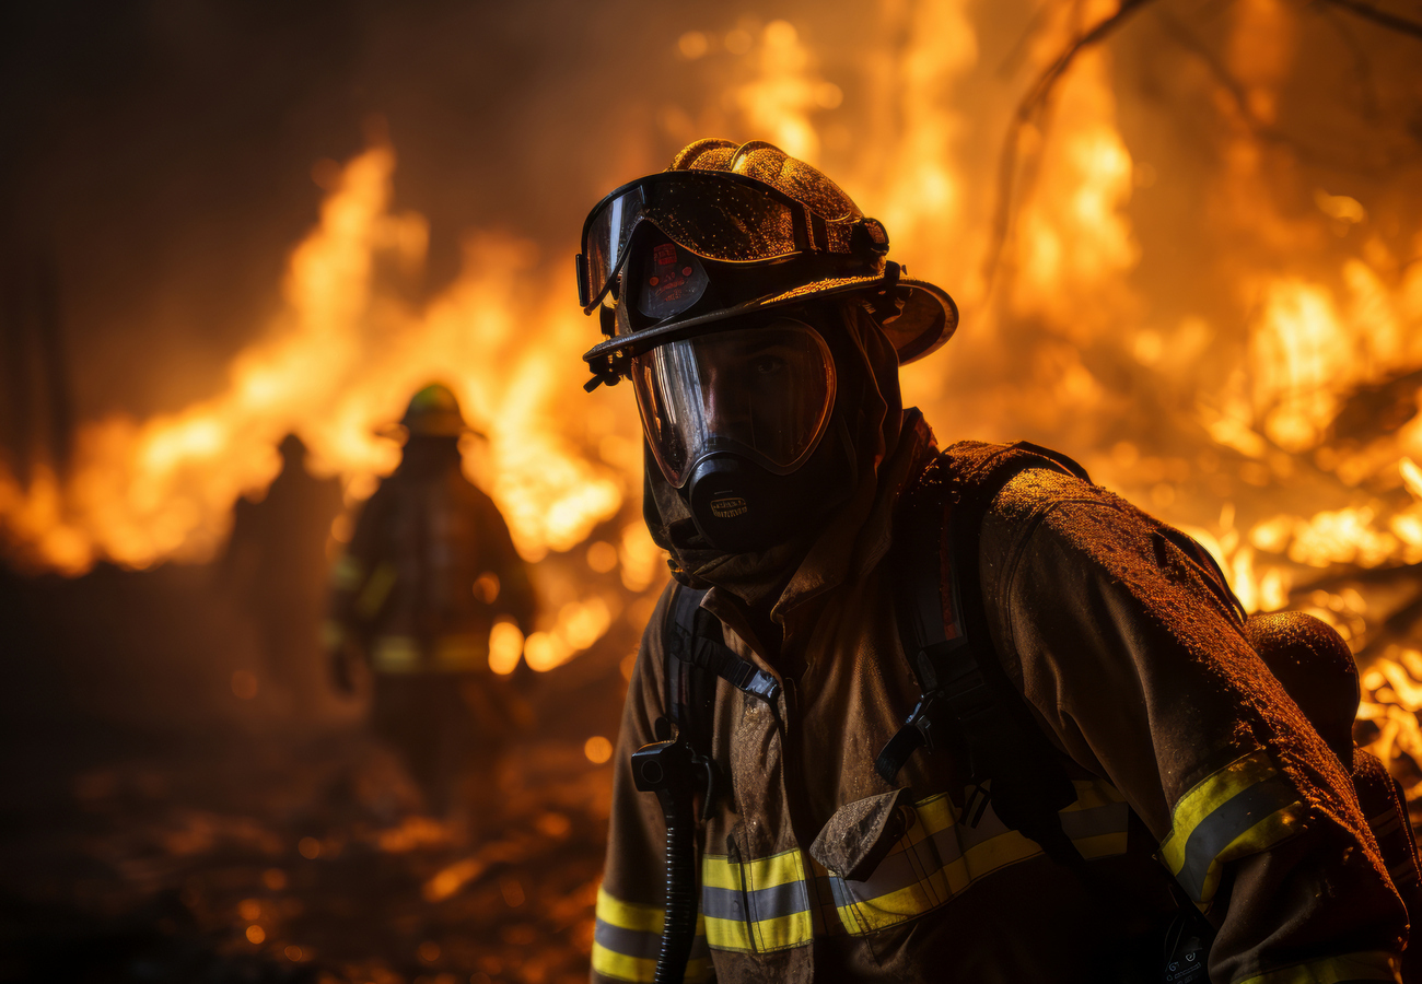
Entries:
{"type": "MultiPolygon", "coordinates": [[[[651,793],[633,786],[631,754],[657,741],[656,721],[664,711],[663,620],[668,617],[675,587],[663,592],[637,650],[621,731],[613,752],[613,809],[607,832],[607,862],[597,890],[597,923],[593,931],[594,984],[602,981],[651,981],[661,950],[665,904],[667,828],[651,793]]],[[[711,978],[705,930],[697,920],[697,940],[687,966],[687,981],[711,978]]]]}

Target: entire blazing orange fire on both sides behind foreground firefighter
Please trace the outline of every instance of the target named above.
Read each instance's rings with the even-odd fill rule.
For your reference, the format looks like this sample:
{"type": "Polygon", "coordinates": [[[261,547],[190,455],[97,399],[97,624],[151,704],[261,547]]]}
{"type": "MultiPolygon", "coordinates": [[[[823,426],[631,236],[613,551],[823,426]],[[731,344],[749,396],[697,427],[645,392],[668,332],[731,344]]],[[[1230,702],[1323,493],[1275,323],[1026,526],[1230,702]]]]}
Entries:
{"type": "MultiPolygon", "coordinates": [[[[1132,82],[1142,14],[1082,48],[1047,111],[1011,127],[1032,80],[1118,10],[1042,7],[1010,48],[998,14],[966,0],[882,4],[848,47],[809,16],[704,24],[668,38],[667,54],[714,81],[707,104],[648,119],[677,144],[761,138],[823,166],[884,220],[896,259],[960,303],[960,338],[903,380],[941,438],[1061,446],[1204,543],[1249,610],[1330,620],[1359,654],[1375,747],[1418,758],[1422,657],[1413,630],[1388,627],[1413,583],[1405,566],[1422,563],[1415,209],[1371,198],[1361,179],[1342,186],[1288,131],[1318,41],[1301,28],[1314,14],[1280,0],[1234,4],[1214,47],[1187,36],[1152,48],[1177,60],[1179,90],[1149,98],[1132,82]],[[1187,141],[1160,135],[1166,97],[1190,101],[1175,107],[1194,128],[1187,141]],[[1017,169],[993,256],[1005,135],[1017,169]],[[1190,161],[1177,159],[1185,145],[1190,161]]],[[[644,614],[636,596],[663,565],[636,516],[641,441],[624,390],[580,388],[596,328],[569,296],[565,257],[472,235],[464,273],[411,303],[391,282],[421,269],[428,226],[391,210],[394,181],[383,142],[333,172],[320,222],[290,256],[284,310],[222,392],[90,424],[63,482],[43,468],[24,486],[0,474],[14,549],[68,573],[210,556],[235,498],[276,472],[287,431],[358,501],[397,459],[377,428],[442,378],[488,434],[471,439],[468,469],[518,549],[576,562],[540,569],[546,621],[526,640],[501,629],[499,665],[519,647],[559,665],[613,620],[644,614]],[[627,594],[589,589],[614,570],[627,594]]]]}

